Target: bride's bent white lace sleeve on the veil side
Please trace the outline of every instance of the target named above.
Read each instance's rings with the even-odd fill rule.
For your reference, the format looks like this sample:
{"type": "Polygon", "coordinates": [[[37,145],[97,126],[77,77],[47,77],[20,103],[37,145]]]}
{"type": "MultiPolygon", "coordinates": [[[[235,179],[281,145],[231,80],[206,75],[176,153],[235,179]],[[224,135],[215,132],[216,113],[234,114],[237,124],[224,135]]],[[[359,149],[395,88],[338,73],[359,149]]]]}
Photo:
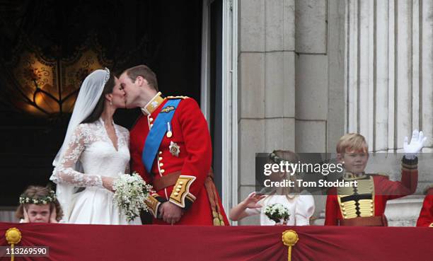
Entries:
{"type": "Polygon", "coordinates": [[[72,134],[66,152],[59,160],[59,165],[54,168],[51,180],[57,184],[68,184],[75,187],[103,187],[100,175],[88,175],[74,170],[75,164],[86,148],[88,139],[85,127],[80,124],[72,134]]]}

